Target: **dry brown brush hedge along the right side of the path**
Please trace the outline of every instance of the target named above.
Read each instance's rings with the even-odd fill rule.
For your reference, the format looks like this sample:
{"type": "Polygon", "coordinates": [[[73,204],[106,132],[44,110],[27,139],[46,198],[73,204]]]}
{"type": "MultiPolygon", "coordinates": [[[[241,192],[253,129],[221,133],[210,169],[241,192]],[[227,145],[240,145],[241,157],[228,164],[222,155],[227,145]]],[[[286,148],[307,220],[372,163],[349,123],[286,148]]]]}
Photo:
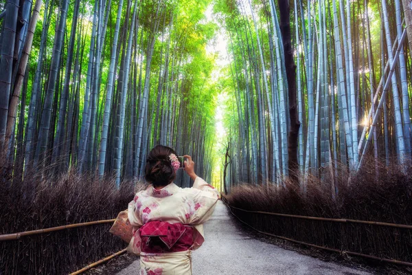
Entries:
{"type": "MultiPolygon", "coordinates": [[[[334,183],[339,188],[331,196],[330,179],[308,177],[306,195],[286,181],[275,185],[232,188],[227,200],[231,206],[282,214],[335,219],[357,219],[412,225],[412,169],[385,168],[369,161],[348,182],[342,175],[334,183]]],[[[263,232],[284,236],[326,248],[369,254],[412,263],[412,230],[381,225],[336,223],[243,212],[233,208],[240,219],[263,232]]]]}

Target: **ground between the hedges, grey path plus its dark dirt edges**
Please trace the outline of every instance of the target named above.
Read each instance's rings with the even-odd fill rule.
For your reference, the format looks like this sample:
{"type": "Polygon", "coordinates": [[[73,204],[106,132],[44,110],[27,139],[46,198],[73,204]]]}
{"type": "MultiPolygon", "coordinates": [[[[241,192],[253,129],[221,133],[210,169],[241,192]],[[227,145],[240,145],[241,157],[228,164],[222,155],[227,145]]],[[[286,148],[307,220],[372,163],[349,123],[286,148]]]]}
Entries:
{"type": "MultiPolygon", "coordinates": [[[[308,249],[249,230],[219,201],[205,223],[205,243],[192,254],[194,275],[209,274],[408,274],[362,259],[308,249]]],[[[136,256],[126,254],[87,274],[139,274],[136,256]]]]}

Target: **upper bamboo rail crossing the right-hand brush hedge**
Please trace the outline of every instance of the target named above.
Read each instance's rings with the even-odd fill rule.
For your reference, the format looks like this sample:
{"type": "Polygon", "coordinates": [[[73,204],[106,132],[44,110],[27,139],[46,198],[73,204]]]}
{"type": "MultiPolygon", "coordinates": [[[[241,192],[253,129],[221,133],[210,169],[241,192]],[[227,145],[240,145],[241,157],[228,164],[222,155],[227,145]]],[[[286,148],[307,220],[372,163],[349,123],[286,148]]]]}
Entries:
{"type": "Polygon", "coordinates": [[[406,228],[406,229],[412,229],[412,225],[407,225],[407,224],[398,224],[398,223],[382,223],[380,221],[359,221],[356,219],[330,219],[330,218],[322,218],[322,217],[309,217],[309,216],[300,216],[300,215],[294,215],[294,214],[280,214],[280,213],[273,213],[273,212],[264,212],[264,211],[251,211],[251,210],[244,210],[242,208],[237,208],[235,206],[230,206],[228,204],[229,208],[234,208],[243,212],[249,212],[249,213],[258,213],[258,214],[270,214],[273,216],[279,216],[279,217],[290,217],[290,218],[297,218],[297,219],[310,219],[310,220],[315,220],[315,221],[334,221],[338,223],[363,223],[363,224],[369,224],[369,225],[382,225],[382,226],[390,226],[393,228],[406,228]]]}

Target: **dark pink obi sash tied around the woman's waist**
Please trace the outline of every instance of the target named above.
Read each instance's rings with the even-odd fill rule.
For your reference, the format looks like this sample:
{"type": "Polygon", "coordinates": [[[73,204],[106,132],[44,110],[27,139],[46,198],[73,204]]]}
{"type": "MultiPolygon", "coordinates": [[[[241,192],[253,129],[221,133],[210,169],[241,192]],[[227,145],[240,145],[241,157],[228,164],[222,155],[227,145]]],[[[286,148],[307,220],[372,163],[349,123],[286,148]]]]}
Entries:
{"type": "Polygon", "coordinates": [[[181,252],[193,246],[193,228],[183,223],[149,221],[139,229],[139,234],[141,252],[181,252]]]}

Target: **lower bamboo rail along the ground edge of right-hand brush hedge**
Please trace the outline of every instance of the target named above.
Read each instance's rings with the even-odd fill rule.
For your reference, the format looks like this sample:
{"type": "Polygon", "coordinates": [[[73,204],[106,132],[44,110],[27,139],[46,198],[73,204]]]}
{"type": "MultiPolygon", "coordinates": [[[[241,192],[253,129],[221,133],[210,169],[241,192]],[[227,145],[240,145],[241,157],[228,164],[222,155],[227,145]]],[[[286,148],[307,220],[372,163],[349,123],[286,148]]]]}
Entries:
{"type": "MultiPolygon", "coordinates": [[[[233,206],[229,206],[229,210],[230,210],[231,214],[233,214],[232,210],[230,209],[231,207],[233,207],[233,206]]],[[[240,209],[240,208],[238,208],[238,209],[240,209]]],[[[247,212],[251,212],[251,211],[247,211],[247,212]]],[[[266,212],[266,213],[267,213],[267,212],[266,212]]],[[[271,213],[271,214],[273,214],[273,213],[271,213]]],[[[373,260],[377,260],[377,261],[383,261],[383,262],[386,262],[386,263],[395,263],[395,264],[397,264],[397,265],[407,265],[407,266],[411,266],[411,267],[412,267],[412,263],[409,263],[409,262],[398,261],[398,260],[393,260],[393,259],[386,259],[386,258],[379,258],[379,257],[377,257],[377,256],[362,254],[362,253],[358,253],[358,252],[345,251],[345,250],[337,250],[337,249],[334,249],[334,248],[325,248],[324,246],[321,246],[321,245],[314,245],[314,244],[312,244],[312,243],[305,243],[304,241],[297,241],[297,240],[294,240],[294,239],[286,238],[286,237],[284,237],[284,236],[278,236],[278,235],[275,235],[275,234],[263,232],[263,231],[260,231],[260,230],[258,230],[258,229],[256,229],[256,228],[254,228],[252,225],[249,225],[249,223],[247,223],[247,222],[245,222],[245,221],[242,221],[238,216],[236,216],[236,214],[233,214],[233,216],[236,217],[236,219],[238,219],[240,222],[248,225],[248,226],[249,226],[250,228],[252,228],[253,230],[255,230],[255,231],[257,231],[257,232],[259,232],[259,233],[261,233],[261,234],[265,234],[265,235],[268,235],[268,236],[274,236],[275,238],[284,239],[284,240],[286,240],[286,241],[291,241],[291,242],[293,242],[293,243],[299,243],[299,244],[302,244],[302,245],[308,245],[308,246],[311,246],[312,248],[319,248],[319,249],[322,249],[322,250],[328,250],[328,251],[330,251],[330,252],[336,252],[336,253],[339,253],[339,254],[350,254],[350,255],[361,256],[361,257],[364,257],[364,258],[373,259],[373,260]]],[[[299,216],[299,217],[304,217],[304,216],[299,216]]],[[[391,224],[391,223],[389,223],[389,224],[391,224]]]]}

